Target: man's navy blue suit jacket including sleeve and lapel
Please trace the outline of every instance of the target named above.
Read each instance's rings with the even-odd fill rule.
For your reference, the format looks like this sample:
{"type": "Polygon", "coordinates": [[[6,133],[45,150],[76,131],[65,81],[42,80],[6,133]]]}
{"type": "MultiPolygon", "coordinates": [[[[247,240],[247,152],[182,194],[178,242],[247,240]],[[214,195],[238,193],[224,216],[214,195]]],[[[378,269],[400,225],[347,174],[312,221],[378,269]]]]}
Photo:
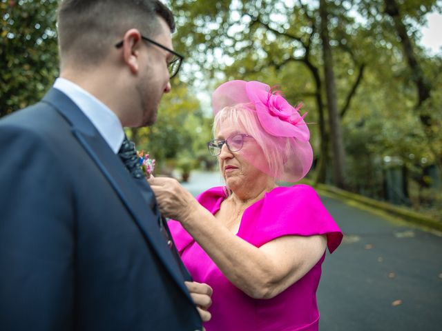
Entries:
{"type": "Polygon", "coordinates": [[[153,205],[59,90],[2,119],[0,330],[201,329],[153,205]]]}

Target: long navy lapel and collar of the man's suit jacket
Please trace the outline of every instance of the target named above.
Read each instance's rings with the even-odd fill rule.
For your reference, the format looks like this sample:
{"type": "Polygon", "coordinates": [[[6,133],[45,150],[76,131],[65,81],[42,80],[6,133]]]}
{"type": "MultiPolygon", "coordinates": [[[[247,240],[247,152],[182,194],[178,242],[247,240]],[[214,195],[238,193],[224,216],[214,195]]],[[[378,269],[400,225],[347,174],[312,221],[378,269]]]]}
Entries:
{"type": "Polygon", "coordinates": [[[72,125],[73,135],[104,174],[113,190],[118,194],[148,245],[151,245],[153,250],[155,250],[158,257],[160,257],[160,261],[169,270],[173,279],[189,297],[179,276],[181,271],[177,263],[175,263],[166,241],[164,241],[160,234],[156,221],[157,216],[153,214],[151,206],[148,206],[146,201],[144,201],[140,189],[124,167],[122,161],[113,153],[86,115],[77,108],[75,103],[66,94],[52,88],[42,101],[53,106],[72,125]]]}

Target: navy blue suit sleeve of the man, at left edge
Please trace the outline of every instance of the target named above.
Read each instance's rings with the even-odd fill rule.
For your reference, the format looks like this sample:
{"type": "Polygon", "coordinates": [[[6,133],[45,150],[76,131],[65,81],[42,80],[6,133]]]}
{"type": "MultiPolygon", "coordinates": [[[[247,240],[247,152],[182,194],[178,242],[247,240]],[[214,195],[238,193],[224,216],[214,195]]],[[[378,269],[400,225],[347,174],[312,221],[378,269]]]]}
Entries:
{"type": "Polygon", "coordinates": [[[61,157],[48,139],[0,128],[0,328],[70,330],[75,212],[61,157]]]}

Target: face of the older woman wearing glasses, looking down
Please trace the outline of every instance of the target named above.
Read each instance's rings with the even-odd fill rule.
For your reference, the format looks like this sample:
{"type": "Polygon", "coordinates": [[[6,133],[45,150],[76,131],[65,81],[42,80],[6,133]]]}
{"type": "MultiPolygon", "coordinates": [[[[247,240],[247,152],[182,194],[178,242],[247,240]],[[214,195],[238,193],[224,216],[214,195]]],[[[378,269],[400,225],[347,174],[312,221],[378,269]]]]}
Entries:
{"type": "MultiPolygon", "coordinates": [[[[215,139],[228,139],[236,134],[246,134],[246,132],[244,129],[226,121],[221,124],[220,130],[216,132],[215,139]]],[[[231,152],[224,143],[221,153],[218,155],[218,162],[224,181],[233,191],[236,188],[257,183],[256,180],[260,177],[267,177],[267,174],[253,165],[267,164],[262,149],[253,137],[244,137],[242,148],[238,152],[231,152]]]]}

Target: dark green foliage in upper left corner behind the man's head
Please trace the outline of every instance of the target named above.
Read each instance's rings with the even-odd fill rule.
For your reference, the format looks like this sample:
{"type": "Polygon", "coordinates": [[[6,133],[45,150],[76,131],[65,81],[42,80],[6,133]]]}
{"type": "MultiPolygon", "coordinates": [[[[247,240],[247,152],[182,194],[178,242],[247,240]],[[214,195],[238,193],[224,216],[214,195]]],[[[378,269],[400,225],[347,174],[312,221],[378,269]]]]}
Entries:
{"type": "Polygon", "coordinates": [[[0,3],[0,117],[37,102],[58,74],[56,0],[0,3]]]}

